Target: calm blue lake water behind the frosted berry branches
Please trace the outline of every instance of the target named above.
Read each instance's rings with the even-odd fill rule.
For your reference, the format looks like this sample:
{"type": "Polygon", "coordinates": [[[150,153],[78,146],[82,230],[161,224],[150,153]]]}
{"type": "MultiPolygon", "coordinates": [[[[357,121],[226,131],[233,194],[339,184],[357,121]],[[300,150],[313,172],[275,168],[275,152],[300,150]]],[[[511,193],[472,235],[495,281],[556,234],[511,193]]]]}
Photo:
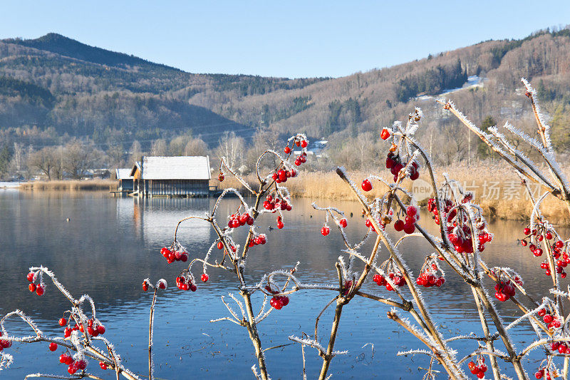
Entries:
{"type": "MultiPolygon", "coordinates": [[[[319,205],[332,205],[323,200],[319,205]]],[[[315,212],[309,200],[296,200],[287,215],[284,230],[267,232],[268,243],[255,247],[250,254],[247,277],[257,282],[263,273],[290,268],[297,260],[298,277],[304,282],[336,283],[334,262],[341,254],[341,240],[335,230],[328,237],[319,233],[323,214],[315,212]],[[311,217],[312,216],[312,217],[311,217]]],[[[358,205],[334,202],[346,212],[348,235],[359,236],[365,227],[358,205]]],[[[175,288],[174,278],[184,264],[167,265],[160,247],[169,245],[178,220],[189,215],[203,215],[213,200],[133,200],[113,198],[106,193],[31,193],[0,190],[0,313],[21,309],[36,320],[43,332],[60,334],[57,320],[68,309],[66,299],[49,287],[43,297],[28,292],[26,274],[31,265],[52,269],[69,291],[79,297],[90,294],[98,307],[98,318],[107,327],[105,337],[115,343],[123,362],[137,374],[147,376],[147,327],[152,294],[141,289],[142,279],[168,280],[170,288],[160,294],[155,317],[155,376],[162,379],[212,378],[252,379],[251,367],[257,364],[247,331],[230,322],[209,323],[210,319],[227,316],[219,296],[236,292],[234,278],[226,272],[209,270],[209,282],[198,284],[197,292],[175,288]],[[66,222],[66,218],[71,218],[66,222]]],[[[219,210],[232,213],[236,200],[227,200],[219,210]]],[[[260,225],[265,230],[275,225],[273,216],[265,216],[260,225]]],[[[423,224],[435,231],[424,217],[423,224]]],[[[516,237],[522,223],[499,222],[491,229],[497,237],[484,252],[493,265],[512,265],[526,280],[527,289],[537,293],[547,282],[539,275],[539,261],[528,250],[517,247],[516,237]],[[544,284],[543,284],[544,283],[544,284]]],[[[187,222],[180,237],[191,257],[202,256],[214,241],[214,233],[205,222],[187,222]]],[[[363,252],[368,252],[369,242],[363,252]]],[[[402,246],[406,260],[414,272],[423,263],[429,247],[411,238],[402,246]]],[[[216,250],[217,251],[217,250],[216,250]]],[[[217,254],[218,252],[214,252],[217,254]]],[[[387,253],[382,252],[382,257],[387,253]]],[[[199,276],[199,267],[195,275],[199,276]]],[[[368,284],[368,291],[386,295],[384,288],[368,284]]],[[[458,332],[480,333],[478,316],[472,312],[471,292],[460,279],[447,274],[440,289],[426,289],[424,297],[435,305],[432,309],[446,337],[458,332]]],[[[314,321],[322,307],[334,296],[332,292],[298,292],[287,307],[276,310],[259,325],[264,347],[289,343],[291,334],[314,333],[314,321]]],[[[261,304],[255,299],[257,307],[261,304]]],[[[500,305],[509,321],[519,315],[507,302],[500,305]]],[[[398,357],[399,350],[424,348],[408,332],[386,318],[389,310],[368,299],[356,299],[344,308],[336,349],[349,354],[336,356],[331,365],[333,379],[420,379],[426,357],[398,357]]],[[[321,319],[321,337],[328,336],[333,308],[321,319]]],[[[29,334],[21,323],[6,324],[13,334],[29,334]]],[[[528,344],[532,334],[528,327],[513,331],[520,348],[528,344]]],[[[458,342],[460,354],[473,348],[472,342],[458,342]]],[[[500,346],[500,344],[499,344],[500,346]]],[[[59,352],[48,351],[47,344],[14,344],[9,349],[15,356],[2,379],[23,379],[26,374],[43,372],[66,374],[66,366],[58,363],[59,352]]],[[[539,355],[539,353],[537,353],[539,355]]],[[[302,361],[299,345],[266,352],[268,369],[273,379],[301,378],[302,361]]],[[[321,360],[314,349],[306,349],[309,378],[314,378],[321,360]]],[[[534,373],[537,364],[527,364],[534,373]]],[[[90,361],[88,369],[113,379],[110,371],[101,371],[90,361]]],[[[489,371],[490,372],[490,371],[489,371]]],[[[508,371],[507,371],[508,373],[508,371]]],[[[440,376],[442,379],[447,376],[440,376]]]]}

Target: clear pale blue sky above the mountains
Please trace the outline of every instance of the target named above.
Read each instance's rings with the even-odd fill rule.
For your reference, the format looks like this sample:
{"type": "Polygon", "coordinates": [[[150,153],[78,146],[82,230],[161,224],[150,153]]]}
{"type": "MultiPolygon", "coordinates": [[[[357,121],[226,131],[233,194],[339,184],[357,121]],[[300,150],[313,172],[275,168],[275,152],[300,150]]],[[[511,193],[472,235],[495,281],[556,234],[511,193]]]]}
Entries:
{"type": "Polygon", "coordinates": [[[570,1],[5,1],[0,38],[56,32],[192,73],[346,76],[570,24],[570,1]]]}

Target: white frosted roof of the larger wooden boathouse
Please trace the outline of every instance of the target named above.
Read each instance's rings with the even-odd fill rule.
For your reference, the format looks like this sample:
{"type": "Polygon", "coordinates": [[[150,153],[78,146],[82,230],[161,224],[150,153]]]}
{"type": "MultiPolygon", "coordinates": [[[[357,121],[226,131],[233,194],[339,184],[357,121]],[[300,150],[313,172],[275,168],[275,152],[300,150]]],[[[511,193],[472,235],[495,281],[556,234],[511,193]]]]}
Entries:
{"type": "Polygon", "coordinates": [[[209,180],[209,156],[145,156],[143,180],[209,180]]]}

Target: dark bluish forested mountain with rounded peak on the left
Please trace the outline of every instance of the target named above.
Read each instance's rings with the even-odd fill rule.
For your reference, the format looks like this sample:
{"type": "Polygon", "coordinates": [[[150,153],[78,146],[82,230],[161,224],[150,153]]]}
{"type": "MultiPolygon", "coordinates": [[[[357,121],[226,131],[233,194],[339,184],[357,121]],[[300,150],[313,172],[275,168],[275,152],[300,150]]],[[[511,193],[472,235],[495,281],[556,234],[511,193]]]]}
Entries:
{"type": "Polygon", "coordinates": [[[214,145],[227,130],[251,136],[254,123],[189,102],[196,93],[249,96],[316,81],[185,73],[53,33],[10,38],[0,41],[0,130],[37,125],[100,143],[191,132],[214,145]]]}

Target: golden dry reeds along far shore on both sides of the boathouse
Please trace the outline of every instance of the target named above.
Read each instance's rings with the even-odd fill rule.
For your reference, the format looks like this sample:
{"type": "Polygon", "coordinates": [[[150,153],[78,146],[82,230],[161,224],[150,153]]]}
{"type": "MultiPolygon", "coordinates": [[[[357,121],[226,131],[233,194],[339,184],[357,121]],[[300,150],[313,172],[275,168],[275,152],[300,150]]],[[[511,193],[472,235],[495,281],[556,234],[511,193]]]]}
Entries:
{"type": "MultiPolygon", "coordinates": [[[[465,190],[474,192],[474,202],[480,205],[485,217],[502,220],[529,220],[532,206],[528,200],[526,190],[524,190],[519,178],[512,169],[499,165],[472,165],[471,168],[450,167],[445,169],[447,170],[442,170],[442,173],[447,173],[450,179],[457,180],[465,190]]],[[[408,191],[412,190],[412,186],[415,187],[413,190],[417,190],[419,183],[423,183],[425,186],[431,188],[427,173],[425,173],[425,170],[423,170],[423,172],[424,173],[420,175],[420,179],[413,183],[410,180],[405,180],[405,188],[408,191]]],[[[349,172],[348,175],[353,182],[358,185],[369,173],[355,171],[349,172]]],[[[382,170],[379,177],[388,183],[393,183],[392,175],[390,175],[388,170],[382,170]]],[[[249,185],[254,185],[254,188],[257,188],[257,178],[255,175],[244,175],[243,178],[249,185]]],[[[438,186],[441,185],[442,180],[442,175],[437,175],[436,182],[438,186]]],[[[366,194],[368,197],[381,196],[383,192],[388,189],[378,180],[373,180],[372,182],[373,190],[366,194]]],[[[0,189],[15,189],[26,192],[109,192],[117,189],[118,181],[53,180],[19,183],[19,185],[14,183],[14,185],[11,186],[2,186],[4,184],[9,183],[1,183],[0,189]]],[[[217,178],[212,178],[210,185],[215,185],[220,190],[236,188],[242,193],[247,192],[238,180],[230,176],[227,176],[223,183],[219,183],[217,178]]],[[[301,172],[299,177],[288,180],[286,187],[289,188],[292,197],[306,197],[315,200],[356,200],[352,190],[333,171],[301,172]]],[[[542,194],[539,188],[533,189],[533,191],[535,198],[539,198],[542,194]]],[[[429,195],[422,200],[418,200],[418,204],[422,206],[425,205],[427,199],[429,199],[429,195]]],[[[541,211],[544,217],[555,225],[570,225],[570,215],[568,215],[564,202],[554,196],[549,195],[546,197],[541,204],[541,211]]]]}

